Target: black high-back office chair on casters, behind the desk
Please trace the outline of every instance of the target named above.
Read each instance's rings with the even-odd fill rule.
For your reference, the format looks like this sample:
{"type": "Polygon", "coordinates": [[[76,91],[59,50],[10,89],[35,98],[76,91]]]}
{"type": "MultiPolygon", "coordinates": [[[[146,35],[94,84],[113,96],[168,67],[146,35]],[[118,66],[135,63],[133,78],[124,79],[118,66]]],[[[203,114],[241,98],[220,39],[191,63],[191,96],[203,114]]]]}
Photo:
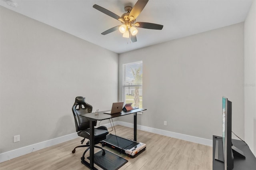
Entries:
{"type": "MultiPolygon", "coordinates": [[[[84,143],[85,138],[90,138],[90,122],[86,117],[80,116],[82,113],[92,113],[92,106],[85,102],[85,97],[78,96],[76,97],[75,103],[72,107],[72,112],[75,119],[76,124],[76,132],[78,136],[83,137],[84,139],[81,140],[81,144],[84,143]],[[84,106],[84,108],[82,108],[84,106]],[[77,109],[78,107],[78,109],[77,109]]],[[[97,121],[94,122],[94,126],[96,126],[97,121]]],[[[100,143],[100,141],[106,139],[106,135],[108,134],[108,129],[105,126],[100,126],[98,128],[94,128],[94,142],[95,144],[100,143]]],[[[82,156],[84,159],[85,153],[89,150],[89,141],[86,143],[86,145],[76,146],[74,150],[72,150],[72,153],[76,152],[76,148],[80,147],[88,147],[82,156]]],[[[102,154],[105,154],[105,150],[101,148],[100,146],[95,146],[95,148],[100,148],[102,150],[102,154]]],[[[81,158],[81,159],[82,159],[81,158]]]]}

